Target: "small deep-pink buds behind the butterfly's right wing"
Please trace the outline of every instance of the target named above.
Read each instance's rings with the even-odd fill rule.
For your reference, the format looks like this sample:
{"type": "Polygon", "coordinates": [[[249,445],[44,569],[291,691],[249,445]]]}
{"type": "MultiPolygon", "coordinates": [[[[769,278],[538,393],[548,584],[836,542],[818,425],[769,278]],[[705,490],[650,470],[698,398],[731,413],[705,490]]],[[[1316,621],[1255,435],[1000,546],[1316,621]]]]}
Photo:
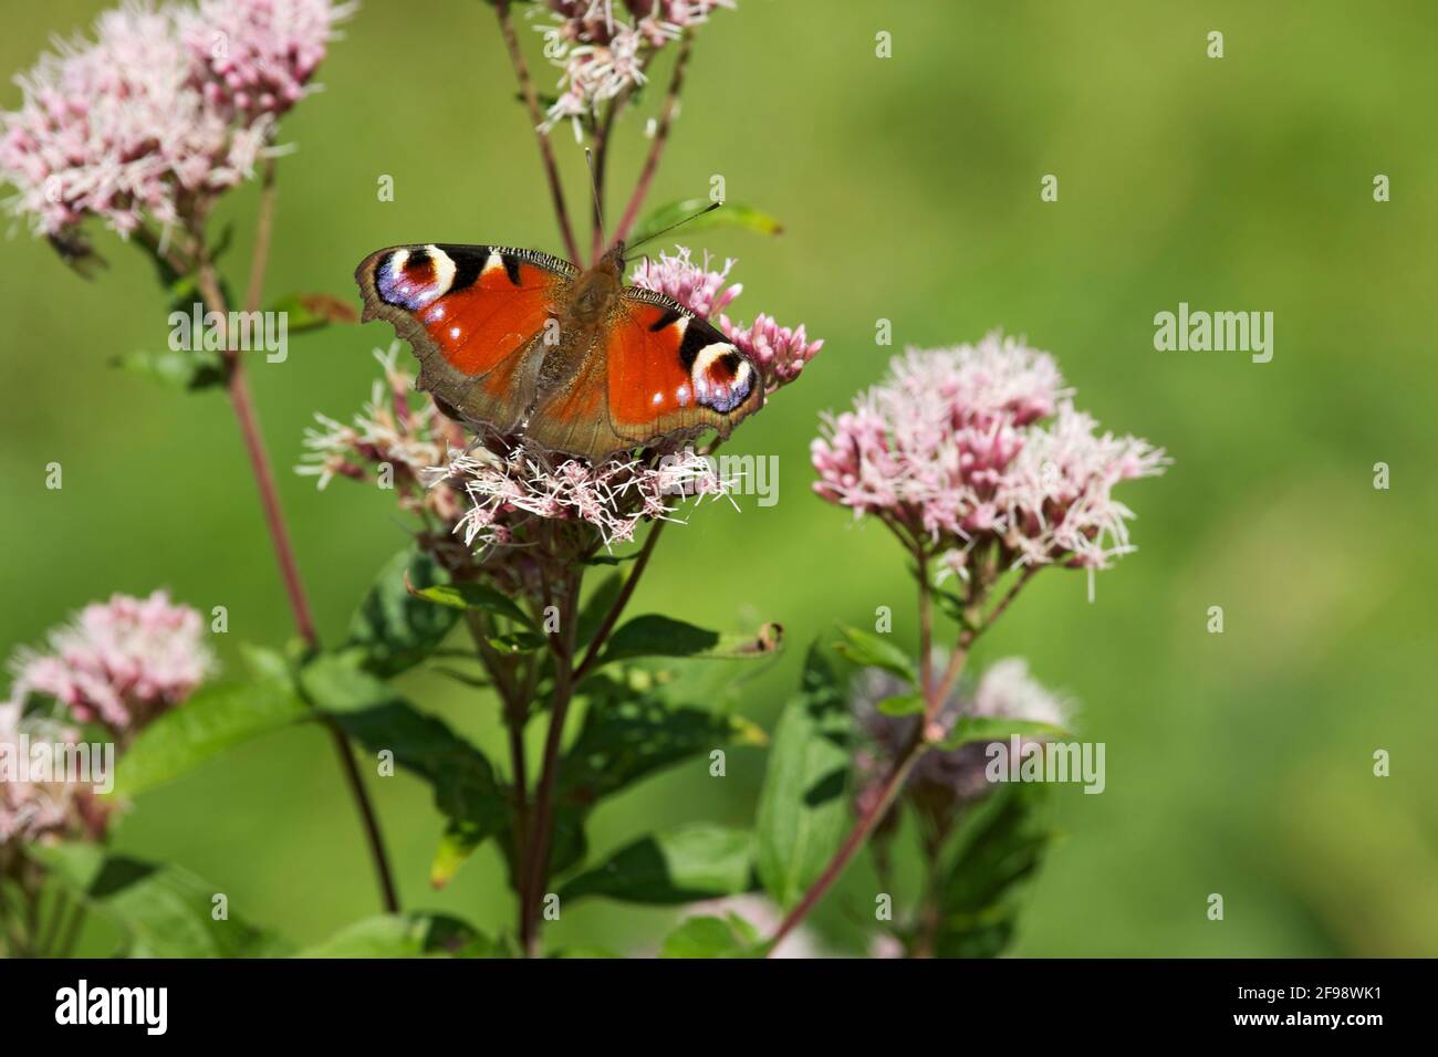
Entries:
{"type": "Polygon", "coordinates": [[[637,262],[630,282],[673,298],[702,319],[718,316],[719,329],[749,357],[764,377],[765,391],[772,394],[794,381],[804,364],[824,348],[824,342],[810,341],[802,324],[792,329],[779,326],[774,316],[762,312],[749,325],[735,324],[723,315],[723,309],[743,292],[742,283],[726,285],[733,265],[732,259],[726,259],[723,269],[716,272],[707,253],[703,263],[696,265],[689,249],[677,246],[673,256],[660,253],[659,260],[646,257],[637,262]]]}

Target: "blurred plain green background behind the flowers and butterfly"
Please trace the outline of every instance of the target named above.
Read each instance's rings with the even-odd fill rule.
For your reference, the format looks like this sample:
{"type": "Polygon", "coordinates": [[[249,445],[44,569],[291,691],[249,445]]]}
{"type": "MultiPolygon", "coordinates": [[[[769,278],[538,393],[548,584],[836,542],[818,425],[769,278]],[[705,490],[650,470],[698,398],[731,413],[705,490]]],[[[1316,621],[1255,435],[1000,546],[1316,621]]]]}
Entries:
{"type": "MultiPolygon", "coordinates": [[[[95,0],[9,3],[0,70],[29,66],[95,0]]],[[[538,35],[521,27],[541,78],[538,35]]],[[[1438,365],[1434,246],[1438,19],[1431,3],[781,3],[741,0],[695,47],[683,114],[651,204],[729,197],[779,216],[775,240],[696,233],[739,259],[739,318],[805,322],[825,351],[736,434],[778,454],[781,500],[702,509],[659,549],[634,611],[736,628],[782,621],[791,649],[745,692],[769,725],[802,644],[837,620],[894,608],[912,646],[912,588],[892,541],[810,493],[818,413],[876,381],[896,349],[1002,326],[1051,349],[1078,404],[1168,447],[1166,477],[1126,486],[1140,552],[1102,574],[1040,577],[979,660],[1022,653],[1083,705],[1107,743],[1107,791],[1060,790],[1068,837],[1030,893],[1025,955],[1438,955],[1438,754],[1429,532],[1438,365]],[[1225,58],[1205,56],[1222,30],[1225,58]],[[893,35],[893,58],[874,35],[893,35]],[[1060,200],[1040,201],[1040,178],[1060,200]],[[1392,201],[1372,197],[1375,174],[1392,201]],[[1179,301],[1276,315],[1276,355],[1155,352],[1179,301]],[[1392,488],[1372,486],[1376,462],[1392,488]],[[1205,630],[1209,605],[1225,633],[1205,630]],[[1392,777],[1372,775],[1375,749],[1392,777]],[[1227,919],[1205,918],[1222,893],[1227,919]]],[[[667,76],[673,55],[660,60],[667,76]]],[[[351,272],[398,242],[499,242],[557,252],[548,194],[493,16],[477,0],[370,0],[321,69],[325,91],[282,139],[270,298],[354,296],[351,272]],[[393,203],[377,201],[381,174],[393,203]]],[[[0,104],[14,106],[7,86],[0,104]]],[[[659,93],[646,109],[653,112],[659,93]]],[[[617,134],[611,211],[646,141],[617,134]]],[[[555,137],[574,209],[582,158],[555,137]]],[[[230,267],[247,260],[253,184],[233,193],[230,267]]],[[[85,601],[167,585],[230,611],[219,641],[290,634],[239,437],[223,397],[187,397],[106,365],[158,348],[164,305],[139,255],[98,239],[85,283],[20,230],[4,243],[9,321],[0,506],[0,643],[33,643],[85,601]],[[45,465],[65,467],[60,492],[45,465]]],[[[288,473],[313,411],[348,418],[388,328],[292,338],[252,372],[322,631],[406,542],[391,496],[288,473]]],[[[454,683],[404,683],[498,749],[493,703],[454,683]]],[[[591,848],[687,820],[752,820],[758,749],[729,777],[650,781],[594,817],[591,848]]],[[[427,886],[440,831],[407,777],[375,792],[411,907],[500,929],[499,857],[482,850],[427,886]]],[[[354,811],[325,738],[295,729],[145,794],[121,848],[183,863],[233,913],[301,942],[375,912],[354,811]]],[[[815,923],[838,946],[871,906],[860,863],[815,923]]],[[[900,897],[902,902],[902,897],[900,897]]],[[[651,949],[672,915],[577,905],[561,943],[651,949]]],[[[109,938],[92,926],[85,949],[109,938]]]]}

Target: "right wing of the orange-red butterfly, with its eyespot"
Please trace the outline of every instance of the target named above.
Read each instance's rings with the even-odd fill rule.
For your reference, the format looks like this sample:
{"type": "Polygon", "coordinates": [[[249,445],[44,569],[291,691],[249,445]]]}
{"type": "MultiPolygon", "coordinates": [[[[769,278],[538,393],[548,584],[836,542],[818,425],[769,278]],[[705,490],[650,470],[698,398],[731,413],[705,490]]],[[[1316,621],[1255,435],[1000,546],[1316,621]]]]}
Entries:
{"type": "Polygon", "coordinates": [[[591,460],[631,447],[720,436],[764,404],[758,370],[710,324],[626,286],[574,378],[541,398],[528,436],[591,460]]]}

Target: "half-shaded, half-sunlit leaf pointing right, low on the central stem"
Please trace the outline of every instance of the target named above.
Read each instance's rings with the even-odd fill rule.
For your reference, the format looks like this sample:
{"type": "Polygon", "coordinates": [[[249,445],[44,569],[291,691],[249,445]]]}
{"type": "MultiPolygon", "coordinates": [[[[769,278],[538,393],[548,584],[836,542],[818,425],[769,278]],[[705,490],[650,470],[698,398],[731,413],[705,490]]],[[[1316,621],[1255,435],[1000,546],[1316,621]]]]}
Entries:
{"type": "Polygon", "coordinates": [[[643,837],[559,889],[559,902],[607,896],[621,903],[692,903],[749,892],[754,834],[695,824],[643,837]]]}

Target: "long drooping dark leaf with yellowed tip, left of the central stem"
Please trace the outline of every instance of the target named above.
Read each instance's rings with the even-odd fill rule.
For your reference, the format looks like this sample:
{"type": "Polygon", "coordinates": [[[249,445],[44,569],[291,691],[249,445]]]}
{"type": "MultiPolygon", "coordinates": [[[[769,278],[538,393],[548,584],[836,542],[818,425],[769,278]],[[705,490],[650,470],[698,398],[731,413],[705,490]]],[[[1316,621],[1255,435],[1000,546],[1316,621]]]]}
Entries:
{"type": "Polygon", "coordinates": [[[486,838],[509,824],[509,797],[483,752],[443,720],[418,712],[352,659],[324,656],[301,673],[301,686],[325,713],[371,752],[423,778],[446,818],[430,880],[443,886],[486,838]]]}

